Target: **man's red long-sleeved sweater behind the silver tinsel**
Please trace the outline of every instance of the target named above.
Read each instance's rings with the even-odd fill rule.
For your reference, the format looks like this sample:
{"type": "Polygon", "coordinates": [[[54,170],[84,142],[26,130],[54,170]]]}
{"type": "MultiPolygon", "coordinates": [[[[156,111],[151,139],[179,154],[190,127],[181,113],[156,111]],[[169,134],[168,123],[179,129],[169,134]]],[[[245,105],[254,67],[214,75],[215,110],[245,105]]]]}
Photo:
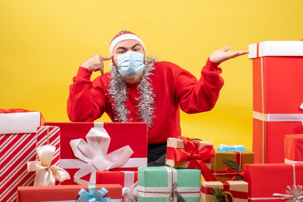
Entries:
{"type": "MultiPolygon", "coordinates": [[[[150,82],[155,94],[155,116],[152,128],[148,132],[149,144],[166,143],[168,137],[181,135],[180,108],[188,114],[211,110],[219,96],[224,81],[219,74],[222,72],[217,63],[209,59],[201,71],[199,80],[190,72],[170,62],[155,62],[154,75],[150,75],[150,82]]],[[[105,112],[111,120],[115,115],[112,101],[107,94],[107,80],[109,73],[100,75],[92,82],[91,71],[79,67],[77,75],[70,86],[67,101],[67,114],[71,121],[92,122],[105,112]]],[[[133,122],[139,122],[136,114],[138,101],[137,86],[128,84],[129,100],[128,116],[133,122]]]]}

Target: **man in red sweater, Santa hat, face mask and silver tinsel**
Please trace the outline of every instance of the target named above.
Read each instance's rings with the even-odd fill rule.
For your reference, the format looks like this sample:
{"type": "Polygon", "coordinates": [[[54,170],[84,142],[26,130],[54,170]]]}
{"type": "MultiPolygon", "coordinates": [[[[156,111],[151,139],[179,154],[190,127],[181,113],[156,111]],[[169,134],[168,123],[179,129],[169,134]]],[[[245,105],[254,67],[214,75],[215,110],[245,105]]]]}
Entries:
{"type": "Polygon", "coordinates": [[[106,113],[115,122],[147,122],[148,165],[165,164],[168,137],[181,135],[180,108],[188,114],[211,110],[224,81],[218,65],[248,51],[214,51],[199,80],[176,64],[146,57],[143,41],[130,31],[111,41],[110,56],[92,56],[78,69],[70,86],[71,121],[94,121],[106,113]],[[105,60],[112,60],[104,73],[105,60]],[[93,81],[92,72],[101,71],[93,81]]]}

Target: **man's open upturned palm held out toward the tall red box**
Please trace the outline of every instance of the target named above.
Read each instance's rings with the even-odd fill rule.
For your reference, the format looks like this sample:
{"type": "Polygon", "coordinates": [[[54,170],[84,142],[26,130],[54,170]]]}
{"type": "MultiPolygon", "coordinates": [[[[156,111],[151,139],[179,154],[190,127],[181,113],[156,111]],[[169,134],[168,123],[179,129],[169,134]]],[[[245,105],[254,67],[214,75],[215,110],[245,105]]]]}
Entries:
{"type": "Polygon", "coordinates": [[[230,58],[236,58],[238,56],[242,56],[244,54],[247,54],[248,51],[228,51],[230,48],[229,45],[225,46],[224,48],[220,50],[213,51],[210,60],[215,63],[221,63],[226,61],[230,58]]]}

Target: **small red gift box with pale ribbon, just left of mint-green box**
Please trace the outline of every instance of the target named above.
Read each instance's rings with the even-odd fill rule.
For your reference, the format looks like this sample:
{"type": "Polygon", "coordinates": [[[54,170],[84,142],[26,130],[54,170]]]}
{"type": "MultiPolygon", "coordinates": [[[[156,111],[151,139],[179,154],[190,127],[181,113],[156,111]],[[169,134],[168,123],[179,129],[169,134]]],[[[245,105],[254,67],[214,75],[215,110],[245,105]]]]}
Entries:
{"type": "MultiPolygon", "coordinates": [[[[120,184],[125,189],[125,191],[123,190],[123,202],[132,202],[124,192],[133,192],[131,189],[135,187],[137,179],[137,171],[96,172],[96,184],[120,184]]],[[[130,197],[133,196],[130,195],[130,197]]]]}

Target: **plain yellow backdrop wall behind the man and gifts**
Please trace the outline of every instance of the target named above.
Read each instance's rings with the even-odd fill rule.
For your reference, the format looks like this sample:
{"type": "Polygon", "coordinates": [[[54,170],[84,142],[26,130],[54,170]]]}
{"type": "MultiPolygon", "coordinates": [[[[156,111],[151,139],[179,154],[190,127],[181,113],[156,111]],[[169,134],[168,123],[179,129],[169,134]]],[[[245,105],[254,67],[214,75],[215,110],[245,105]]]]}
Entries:
{"type": "MultiPolygon", "coordinates": [[[[108,55],[123,29],[141,37],[148,55],[199,77],[212,51],[227,44],[245,50],[262,41],[301,40],[302,8],[303,0],[0,0],[0,108],[69,121],[66,100],[78,66],[91,55],[108,55]]],[[[220,67],[225,85],[215,108],[182,112],[182,135],[215,146],[234,141],[251,151],[252,61],[242,56],[220,67]]]]}

